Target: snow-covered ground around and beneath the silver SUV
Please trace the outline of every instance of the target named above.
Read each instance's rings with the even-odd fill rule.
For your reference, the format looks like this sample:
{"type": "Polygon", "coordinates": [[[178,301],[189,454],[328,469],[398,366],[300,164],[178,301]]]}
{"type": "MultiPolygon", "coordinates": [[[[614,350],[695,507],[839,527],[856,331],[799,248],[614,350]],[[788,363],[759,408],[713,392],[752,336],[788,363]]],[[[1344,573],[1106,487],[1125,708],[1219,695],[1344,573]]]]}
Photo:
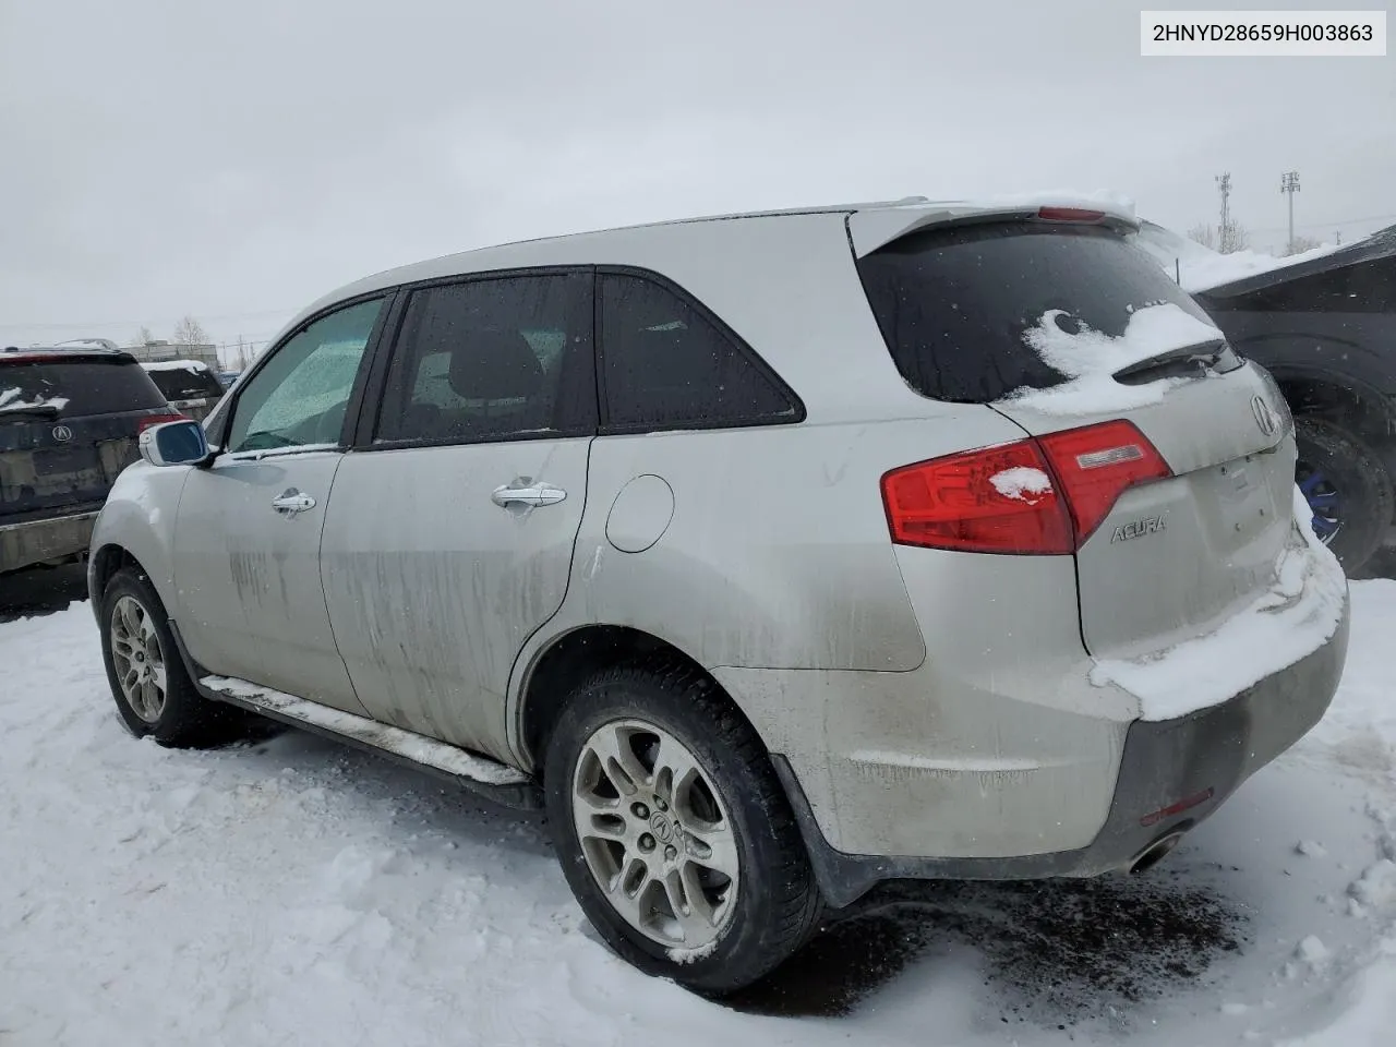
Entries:
{"type": "Polygon", "coordinates": [[[0,624],[0,1044],[1390,1044],[1396,582],[1152,874],[888,888],[733,1005],[589,933],[536,818],[296,732],[121,729],[85,603],[0,624]]]}

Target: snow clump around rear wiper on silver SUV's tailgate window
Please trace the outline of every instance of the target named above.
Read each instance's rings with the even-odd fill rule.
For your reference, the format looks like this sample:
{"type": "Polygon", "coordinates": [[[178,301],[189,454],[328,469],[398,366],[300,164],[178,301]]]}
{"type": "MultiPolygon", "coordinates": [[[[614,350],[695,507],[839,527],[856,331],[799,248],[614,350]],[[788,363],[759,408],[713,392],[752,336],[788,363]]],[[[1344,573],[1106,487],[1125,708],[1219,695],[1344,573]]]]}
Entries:
{"type": "Polygon", "coordinates": [[[1064,309],[1053,309],[1023,334],[1023,341],[1069,381],[1046,389],[1016,389],[1005,398],[1005,403],[1044,415],[1092,415],[1157,403],[1164,392],[1182,380],[1122,385],[1114,380],[1115,371],[1174,349],[1222,338],[1223,334],[1216,327],[1189,315],[1171,302],[1131,313],[1129,322],[1118,338],[1078,324],[1064,309]],[[1079,329],[1065,329],[1068,327],[1079,329]]]}

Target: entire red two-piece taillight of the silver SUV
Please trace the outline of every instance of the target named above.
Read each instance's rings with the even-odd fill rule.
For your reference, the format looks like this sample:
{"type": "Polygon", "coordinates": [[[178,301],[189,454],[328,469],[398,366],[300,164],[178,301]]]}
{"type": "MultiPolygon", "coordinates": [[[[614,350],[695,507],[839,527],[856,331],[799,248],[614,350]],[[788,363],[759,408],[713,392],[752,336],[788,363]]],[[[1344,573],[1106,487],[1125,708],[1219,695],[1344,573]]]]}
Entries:
{"type": "Polygon", "coordinates": [[[1136,483],[1171,476],[1129,422],[1106,422],[892,469],[892,540],[973,553],[1067,554],[1136,483]]]}

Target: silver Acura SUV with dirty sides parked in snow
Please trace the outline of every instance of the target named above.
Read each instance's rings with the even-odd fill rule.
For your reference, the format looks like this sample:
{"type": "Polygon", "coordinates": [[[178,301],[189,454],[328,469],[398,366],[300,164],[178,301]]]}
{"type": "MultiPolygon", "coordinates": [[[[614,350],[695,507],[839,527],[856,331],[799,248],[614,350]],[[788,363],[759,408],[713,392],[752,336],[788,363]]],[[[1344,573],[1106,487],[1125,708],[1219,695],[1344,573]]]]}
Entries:
{"type": "Polygon", "coordinates": [[[881,879],[1142,870],[1323,715],[1347,585],[1134,228],[917,198],[350,285],[142,434],[117,708],[546,807],[606,941],[713,994],[881,879]]]}

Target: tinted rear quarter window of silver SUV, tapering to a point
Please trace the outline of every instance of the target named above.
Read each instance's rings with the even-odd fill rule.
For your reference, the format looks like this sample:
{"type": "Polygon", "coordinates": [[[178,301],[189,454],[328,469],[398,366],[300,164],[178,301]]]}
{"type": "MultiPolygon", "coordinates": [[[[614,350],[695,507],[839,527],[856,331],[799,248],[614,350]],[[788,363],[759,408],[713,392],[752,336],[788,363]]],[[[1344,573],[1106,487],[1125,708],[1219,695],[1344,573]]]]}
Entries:
{"type": "Polygon", "coordinates": [[[662,283],[602,276],[607,431],[799,422],[794,394],[754,352],[662,283]]]}

